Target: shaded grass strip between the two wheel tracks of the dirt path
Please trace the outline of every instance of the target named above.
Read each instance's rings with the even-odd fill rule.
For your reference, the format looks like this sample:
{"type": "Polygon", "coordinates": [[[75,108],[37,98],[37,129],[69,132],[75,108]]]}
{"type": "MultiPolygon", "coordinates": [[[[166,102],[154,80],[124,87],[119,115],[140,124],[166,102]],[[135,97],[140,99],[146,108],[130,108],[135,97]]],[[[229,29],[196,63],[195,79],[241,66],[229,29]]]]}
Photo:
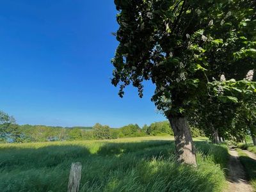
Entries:
{"type": "Polygon", "coordinates": [[[239,159],[244,166],[246,176],[256,191],[256,161],[247,156],[240,148],[237,148],[239,159]]]}

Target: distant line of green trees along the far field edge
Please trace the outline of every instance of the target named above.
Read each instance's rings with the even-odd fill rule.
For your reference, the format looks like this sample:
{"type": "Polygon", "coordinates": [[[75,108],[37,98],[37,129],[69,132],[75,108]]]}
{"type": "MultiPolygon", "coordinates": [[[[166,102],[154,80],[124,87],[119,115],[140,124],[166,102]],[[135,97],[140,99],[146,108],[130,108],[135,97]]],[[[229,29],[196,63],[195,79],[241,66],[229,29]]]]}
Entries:
{"type": "MultiPolygon", "coordinates": [[[[191,129],[193,136],[204,136],[199,129],[191,129]]],[[[45,141],[111,140],[140,136],[172,135],[169,122],[144,125],[129,124],[120,128],[95,124],[93,127],[52,127],[45,125],[18,125],[12,116],[0,111],[0,143],[28,143],[45,141]]]]}

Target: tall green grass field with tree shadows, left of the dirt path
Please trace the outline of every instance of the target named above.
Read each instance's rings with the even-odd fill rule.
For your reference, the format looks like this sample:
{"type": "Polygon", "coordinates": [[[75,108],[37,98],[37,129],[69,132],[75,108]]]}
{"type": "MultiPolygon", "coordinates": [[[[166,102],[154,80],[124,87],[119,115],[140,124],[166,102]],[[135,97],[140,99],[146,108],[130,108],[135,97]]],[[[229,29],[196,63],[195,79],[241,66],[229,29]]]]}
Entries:
{"type": "Polygon", "coordinates": [[[196,139],[198,168],[175,163],[171,137],[0,145],[0,191],[67,191],[72,162],[81,191],[221,191],[228,149],[196,139]]]}

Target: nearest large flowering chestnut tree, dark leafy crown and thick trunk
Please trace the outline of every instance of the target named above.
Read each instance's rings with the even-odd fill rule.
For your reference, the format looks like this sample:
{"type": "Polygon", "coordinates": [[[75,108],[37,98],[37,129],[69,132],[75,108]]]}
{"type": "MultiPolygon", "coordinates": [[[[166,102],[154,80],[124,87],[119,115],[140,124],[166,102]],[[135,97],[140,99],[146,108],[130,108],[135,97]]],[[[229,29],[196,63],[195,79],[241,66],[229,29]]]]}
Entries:
{"type": "Polygon", "coordinates": [[[238,17],[248,11],[246,6],[253,5],[253,1],[237,6],[238,2],[115,0],[120,25],[116,39],[120,44],[112,60],[115,67],[112,84],[120,86],[120,97],[131,83],[138,88],[140,97],[143,81],[156,84],[152,101],[172,125],[180,162],[196,166],[195,147],[186,118],[198,106],[197,99],[207,94],[207,74],[216,75],[215,71],[237,66],[253,54],[253,35],[246,35],[248,28],[240,28],[239,24],[245,22],[252,29],[255,12],[249,10],[245,15],[248,18],[244,16],[251,20],[238,17]],[[237,17],[228,20],[230,13],[237,17]],[[243,32],[246,45],[243,45],[245,40],[235,38],[237,34],[230,32],[233,28],[243,32]],[[227,46],[220,54],[214,54],[223,42],[227,46]]]}

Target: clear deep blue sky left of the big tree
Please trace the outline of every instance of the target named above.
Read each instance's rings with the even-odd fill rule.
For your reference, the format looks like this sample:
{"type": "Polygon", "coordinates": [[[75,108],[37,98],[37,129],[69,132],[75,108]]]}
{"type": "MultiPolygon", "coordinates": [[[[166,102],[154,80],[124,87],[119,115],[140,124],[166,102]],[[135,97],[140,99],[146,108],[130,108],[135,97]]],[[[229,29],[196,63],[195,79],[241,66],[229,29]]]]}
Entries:
{"type": "Polygon", "coordinates": [[[118,97],[110,63],[118,42],[113,0],[2,0],[0,109],[19,124],[111,127],[164,120],[135,88],[118,97]]]}

